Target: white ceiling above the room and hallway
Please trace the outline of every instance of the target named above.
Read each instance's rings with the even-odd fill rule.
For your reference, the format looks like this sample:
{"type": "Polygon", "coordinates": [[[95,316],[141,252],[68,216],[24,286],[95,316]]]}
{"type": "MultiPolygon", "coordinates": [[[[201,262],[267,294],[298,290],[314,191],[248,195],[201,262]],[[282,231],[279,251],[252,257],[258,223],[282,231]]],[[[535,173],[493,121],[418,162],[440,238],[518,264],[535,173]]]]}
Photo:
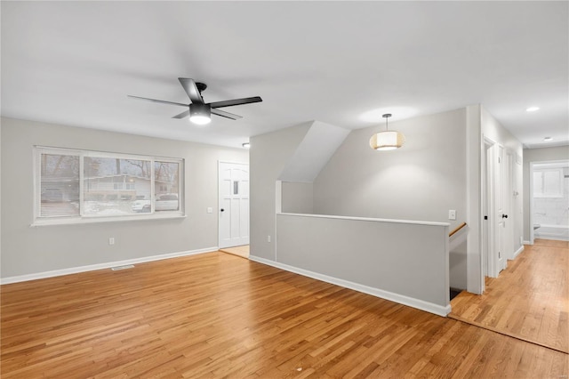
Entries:
{"type": "Polygon", "coordinates": [[[4,117],[240,147],[310,120],[356,129],[481,103],[526,146],[569,143],[565,1],[0,6],[4,117]],[[178,77],[206,83],[206,102],[263,102],[197,127],[126,97],[188,103],[178,77]]]}

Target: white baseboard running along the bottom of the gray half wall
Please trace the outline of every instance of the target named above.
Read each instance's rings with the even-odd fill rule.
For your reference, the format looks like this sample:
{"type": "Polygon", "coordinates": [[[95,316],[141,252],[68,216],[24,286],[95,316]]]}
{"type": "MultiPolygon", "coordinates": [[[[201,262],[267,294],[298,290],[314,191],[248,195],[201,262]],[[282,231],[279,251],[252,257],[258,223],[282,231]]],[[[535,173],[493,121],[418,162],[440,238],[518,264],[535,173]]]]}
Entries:
{"type": "Polygon", "coordinates": [[[326,283],[331,283],[336,286],[342,286],[344,288],[353,289],[354,291],[362,292],[364,294],[371,294],[376,297],[380,297],[381,299],[389,300],[391,302],[397,302],[399,304],[407,305],[409,307],[416,308],[418,310],[425,310],[429,313],[434,313],[437,316],[446,317],[451,312],[451,305],[447,305],[445,307],[441,305],[434,304],[432,302],[424,302],[419,299],[415,299],[413,297],[408,297],[403,294],[394,294],[389,291],[384,291],[379,288],[374,288],[371,286],[364,286],[358,283],[350,282],[349,280],[344,280],[341,278],[334,278],[329,277],[324,274],[319,274],[317,272],[299,269],[297,267],[289,266],[288,264],[270,261],[265,258],[260,258],[258,256],[249,255],[249,259],[254,262],[259,262],[262,264],[267,264],[268,266],[276,267],[277,269],[291,271],[295,274],[299,274],[305,277],[314,278],[317,280],[321,280],[326,283]]]}

